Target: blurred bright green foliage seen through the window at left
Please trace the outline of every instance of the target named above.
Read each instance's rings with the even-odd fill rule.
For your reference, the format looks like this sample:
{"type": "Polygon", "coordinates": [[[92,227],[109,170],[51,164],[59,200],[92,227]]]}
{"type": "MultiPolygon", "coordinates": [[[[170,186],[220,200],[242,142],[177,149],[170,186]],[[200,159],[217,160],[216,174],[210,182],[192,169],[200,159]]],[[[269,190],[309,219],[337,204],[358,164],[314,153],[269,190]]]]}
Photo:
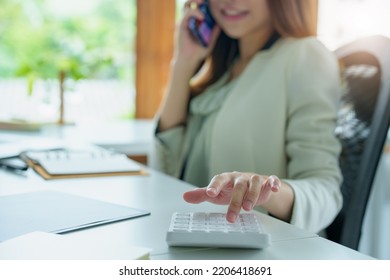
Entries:
{"type": "Polygon", "coordinates": [[[0,77],[26,77],[29,93],[36,79],[60,72],[73,80],[134,79],[136,1],[84,1],[95,3],[84,14],[77,2],[62,1],[76,11],[64,15],[49,8],[55,0],[0,0],[0,77]]]}

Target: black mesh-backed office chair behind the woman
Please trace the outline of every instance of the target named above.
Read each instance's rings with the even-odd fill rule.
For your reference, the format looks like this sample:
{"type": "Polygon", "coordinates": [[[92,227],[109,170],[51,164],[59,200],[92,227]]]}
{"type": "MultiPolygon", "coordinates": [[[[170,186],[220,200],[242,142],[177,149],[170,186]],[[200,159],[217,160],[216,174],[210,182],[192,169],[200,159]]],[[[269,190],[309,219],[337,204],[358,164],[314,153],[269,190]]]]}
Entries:
{"type": "Polygon", "coordinates": [[[390,123],[390,38],[366,37],[335,51],[345,94],[336,135],[342,143],[342,210],[327,238],[358,250],[367,202],[390,123]]]}

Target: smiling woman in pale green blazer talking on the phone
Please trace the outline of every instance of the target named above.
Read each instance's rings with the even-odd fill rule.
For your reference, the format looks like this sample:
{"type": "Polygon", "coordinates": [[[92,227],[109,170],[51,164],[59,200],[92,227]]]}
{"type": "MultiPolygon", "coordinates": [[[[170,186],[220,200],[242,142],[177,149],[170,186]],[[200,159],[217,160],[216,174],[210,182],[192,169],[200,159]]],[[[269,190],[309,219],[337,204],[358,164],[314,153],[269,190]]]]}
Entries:
{"type": "Polygon", "coordinates": [[[340,88],[310,1],[209,0],[217,27],[207,48],[187,28],[202,2],[186,4],[177,30],[155,167],[207,186],[184,199],[228,204],[229,222],[255,208],[319,232],[342,205],[340,88]]]}

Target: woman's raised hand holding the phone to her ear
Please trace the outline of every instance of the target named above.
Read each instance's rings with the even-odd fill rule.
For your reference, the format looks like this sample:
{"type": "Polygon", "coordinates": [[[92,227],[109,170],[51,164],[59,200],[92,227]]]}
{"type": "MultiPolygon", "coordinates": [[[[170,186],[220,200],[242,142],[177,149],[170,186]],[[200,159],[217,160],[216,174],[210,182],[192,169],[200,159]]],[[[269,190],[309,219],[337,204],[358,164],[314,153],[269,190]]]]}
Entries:
{"type": "Polygon", "coordinates": [[[204,19],[203,13],[197,8],[202,2],[203,0],[191,0],[185,3],[184,16],[177,27],[175,38],[175,60],[182,59],[190,64],[193,62],[195,66],[211,52],[220,32],[220,28],[216,25],[212,32],[211,43],[207,48],[200,45],[192,37],[188,28],[188,22],[191,17],[195,17],[199,20],[204,19]]]}

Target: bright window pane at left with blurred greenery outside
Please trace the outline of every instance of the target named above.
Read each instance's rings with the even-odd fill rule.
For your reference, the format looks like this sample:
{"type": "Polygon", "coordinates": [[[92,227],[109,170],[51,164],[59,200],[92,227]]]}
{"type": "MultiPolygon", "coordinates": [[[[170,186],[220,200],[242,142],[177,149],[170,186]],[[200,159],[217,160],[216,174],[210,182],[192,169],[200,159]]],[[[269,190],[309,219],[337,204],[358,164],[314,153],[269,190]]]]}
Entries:
{"type": "Polygon", "coordinates": [[[0,119],[134,116],[136,0],[2,0],[0,119]]]}

